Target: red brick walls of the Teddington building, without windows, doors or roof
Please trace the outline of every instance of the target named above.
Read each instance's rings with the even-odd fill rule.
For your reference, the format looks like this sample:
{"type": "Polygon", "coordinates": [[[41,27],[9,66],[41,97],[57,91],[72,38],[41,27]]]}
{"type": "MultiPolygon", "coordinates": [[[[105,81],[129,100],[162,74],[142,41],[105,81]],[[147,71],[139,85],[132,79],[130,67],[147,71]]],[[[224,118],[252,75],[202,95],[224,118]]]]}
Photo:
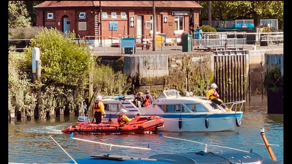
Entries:
{"type": "MultiPolygon", "coordinates": [[[[173,31],[175,31],[175,16],[172,16],[172,11],[177,10],[167,10],[167,9],[157,9],[156,15],[157,15],[157,31],[159,31],[159,26],[161,26],[162,33],[165,33],[167,35],[167,38],[173,36],[173,31]],[[163,12],[161,15],[160,12],[163,12]],[[168,22],[163,23],[163,16],[168,16],[168,22]],[[169,22],[172,22],[172,26],[169,26],[169,22]]],[[[179,11],[189,11],[189,10],[182,10],[179,11]]],[[[100,16],[99,11],[97,9],[80,9],[80,8],[74,8],[74,10],[67,10],[67,9],[59,9],[59,10],[46,10],[45,13],[45,24],[46,25],[55,25],[58,30],[62,31],[62,17],[64,15],[67,15],[70,19],[70,31],[75,31],[75,33],[80,35],[80,37],[83,36],[94,36],[95,35],[95,20],[94,20],[94,13],[97,12],[97,14],[100,16]],[[64,10],[66,12],[64,12],[64,10]],[[93,11],[93,13],[91,13],[93,11]],[[79,19],[79,13],[80,12],[86,12],[86,19],[79,19]],[[47,13],[54,13],[54,19],[48,20],[47,13]],[[78,22],[87,22],[87,30],[86,31],[78,31],[78,22]],[[60,25],[58,25],[58,22],[60,22],[60,25]]],[[[150,37],[150,29],[145,29],[145,21],[150,21],[150,17],[152,16],[152,10],[150,9],[140,9],[140,10],[128,10],[128,9],[103,9],[102,12],[107,12],[108,18],[107,19],[101,19],[102,20],[102,36],[106,36],[105,39],[108,39],[108,36],[112,35],[112,31],[109,30],[109,22],[110,21],[117,21],[118,22],[118,30],[113,31],[113,36],[119,36],[124,35],[124,26],[125,26],[125,35],[135,35],[136,27],[129,27],[129,16],[135,16],[135,26],[137,23],[137,16],[142,15],[143,16],[143,32],[144,35],[147,35],[150,37]],[[111,18],[111,12],[114,11],[117,13],[117,19],[111,18]],[[121,18],[121,12],[126,12],[127,18],[122,19],[121,18]]],[[[194,11],[194,25],[195,28],[199,25],[199,11],[194,11]]],[[[37,13],[37,26],[42,26],[43,16],[42,11],[39,11],[37,13]]],[[[189,16],[184,16],[184,30],[189,31],[189,16]]],[[[100,32],[100,31],[99,31],[100,32]]]]}

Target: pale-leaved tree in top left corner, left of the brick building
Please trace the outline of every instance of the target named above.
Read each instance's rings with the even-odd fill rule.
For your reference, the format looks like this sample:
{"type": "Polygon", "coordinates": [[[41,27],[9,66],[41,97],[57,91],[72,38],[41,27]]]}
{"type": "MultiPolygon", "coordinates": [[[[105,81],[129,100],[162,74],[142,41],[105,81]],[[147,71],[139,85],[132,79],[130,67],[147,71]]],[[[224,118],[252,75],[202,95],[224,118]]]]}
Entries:
{"type": "Polygon", "coordinates": [[[29,26],[30,17],[24,1],[8,1],[8,28],[29,26]]]}

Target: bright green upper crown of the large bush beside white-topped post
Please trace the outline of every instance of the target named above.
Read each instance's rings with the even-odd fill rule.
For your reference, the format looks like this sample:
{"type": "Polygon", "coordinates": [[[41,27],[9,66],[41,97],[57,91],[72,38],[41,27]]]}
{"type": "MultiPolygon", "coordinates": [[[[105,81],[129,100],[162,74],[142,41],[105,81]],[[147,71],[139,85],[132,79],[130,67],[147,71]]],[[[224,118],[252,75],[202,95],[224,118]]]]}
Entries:
{"type": "Polygon", "coordinates": [[[32,38],[30,47],[25,49],[28,66],[31,68],[32,48],[41,52],[42,82],[78,86],[88,80],[90,52],[74,42],[75,33],[64,35],[57,29],[43,29],[32,38]]]}

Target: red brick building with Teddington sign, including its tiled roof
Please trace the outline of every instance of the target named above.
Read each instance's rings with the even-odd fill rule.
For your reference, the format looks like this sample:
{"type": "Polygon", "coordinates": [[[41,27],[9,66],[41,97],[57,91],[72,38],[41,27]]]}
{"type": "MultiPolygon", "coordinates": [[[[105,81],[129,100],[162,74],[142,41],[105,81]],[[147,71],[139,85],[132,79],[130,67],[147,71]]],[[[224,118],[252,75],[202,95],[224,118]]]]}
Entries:
{"type": "MultiPolygon", "coordinates": [[[[154,2],[157,33],[166,35],[166,41],[199,25],[202,7],[195,1],[154,2]]],[[[37,26],[56,27],[63,32],[74,30],[80,37],[91,36],[95,45],[100,43],[100,36],[105,36],[109,45],[109,36],[151,39],[152,5],[152,1],[44,1],[34,8],[37,26]]]]}

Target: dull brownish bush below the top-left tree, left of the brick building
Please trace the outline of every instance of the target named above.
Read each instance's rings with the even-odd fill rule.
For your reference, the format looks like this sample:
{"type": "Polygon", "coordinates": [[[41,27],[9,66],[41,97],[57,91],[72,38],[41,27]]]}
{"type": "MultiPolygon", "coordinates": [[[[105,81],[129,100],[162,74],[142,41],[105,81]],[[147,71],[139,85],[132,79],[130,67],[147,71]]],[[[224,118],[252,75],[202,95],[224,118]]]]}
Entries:
{"type": "Polygon", "coordinates": [[[8,39],[31,39],[43,29],[43,27],[8,28],[8,39]]]}

